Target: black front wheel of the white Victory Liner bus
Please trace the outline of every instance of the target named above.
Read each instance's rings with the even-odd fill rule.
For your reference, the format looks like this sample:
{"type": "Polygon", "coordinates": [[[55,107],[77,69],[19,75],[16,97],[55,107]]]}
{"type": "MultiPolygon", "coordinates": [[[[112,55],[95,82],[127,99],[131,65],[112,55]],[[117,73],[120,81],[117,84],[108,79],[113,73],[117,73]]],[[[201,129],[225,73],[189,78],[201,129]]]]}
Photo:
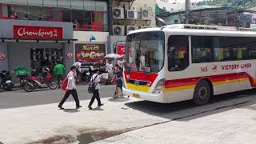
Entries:
{"type": "Polygon", "coordinates": [[[211,96],[210,85],[208,82],[202,80],[198,82],[194,89],[193,102],[196,105],[206,104],[211,96]]]}

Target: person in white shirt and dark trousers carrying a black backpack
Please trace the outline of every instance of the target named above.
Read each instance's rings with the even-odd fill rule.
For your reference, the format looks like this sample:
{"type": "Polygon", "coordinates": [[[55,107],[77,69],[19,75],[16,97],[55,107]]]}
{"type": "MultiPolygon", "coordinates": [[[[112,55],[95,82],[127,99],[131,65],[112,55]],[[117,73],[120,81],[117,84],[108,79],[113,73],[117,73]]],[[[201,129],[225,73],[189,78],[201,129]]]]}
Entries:
{"type": "Polygon", "coordinates": [[[101,76],[99,75],[99,69],[94,71],[94,75],[90,78],[90,85],[88,88],[89,93],[93,93],[93,97],[90,100],[90,104],[88,108],[92,110],[93,108],[91,107],[94,103],[95,98],[98,101],[98,106],[103,106],[101,102],[101,98],[99,98],[99,82],[101,82],[101,76]]]}

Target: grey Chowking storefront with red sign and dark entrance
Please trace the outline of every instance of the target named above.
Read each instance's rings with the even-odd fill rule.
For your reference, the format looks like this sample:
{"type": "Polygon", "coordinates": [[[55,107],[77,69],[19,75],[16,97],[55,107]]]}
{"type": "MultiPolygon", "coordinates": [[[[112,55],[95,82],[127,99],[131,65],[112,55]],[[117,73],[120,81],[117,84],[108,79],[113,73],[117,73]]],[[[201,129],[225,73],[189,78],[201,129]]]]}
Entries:
{"type": "Polygon", "coordinates": [[[0,20],[0,70],[53,68],[60,61],[74,62],[73,27],[70,22],[0,20]]]}

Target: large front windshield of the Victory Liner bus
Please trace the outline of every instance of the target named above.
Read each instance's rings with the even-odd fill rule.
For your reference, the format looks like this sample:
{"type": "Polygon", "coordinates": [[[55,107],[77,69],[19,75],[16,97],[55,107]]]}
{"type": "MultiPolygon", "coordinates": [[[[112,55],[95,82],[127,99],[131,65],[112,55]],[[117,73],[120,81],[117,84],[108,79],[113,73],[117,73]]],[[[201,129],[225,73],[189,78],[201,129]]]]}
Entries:
{"type": "Polygon", "coordinates": [[[150,31],[126,37],[126,70],[157,73],[164,61],[164,33],[150,31]]]}

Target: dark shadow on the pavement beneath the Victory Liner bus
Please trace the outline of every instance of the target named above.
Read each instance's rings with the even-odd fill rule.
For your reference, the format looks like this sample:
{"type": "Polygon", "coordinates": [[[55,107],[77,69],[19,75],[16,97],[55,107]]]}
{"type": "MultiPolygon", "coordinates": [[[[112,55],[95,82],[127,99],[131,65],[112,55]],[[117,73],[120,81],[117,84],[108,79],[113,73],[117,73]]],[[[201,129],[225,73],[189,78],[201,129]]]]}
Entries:
{"type": "Polygon", "coordinates": [[[189,121],[218,114],[226,110],[233,110],[242,106],[250,106],[256,102],[256,90],[245,90],[230,94],[221,94],[211,98],[205,106],[195,106],[190,101],[162,104],[158,102],[129,102],[126,106],[142,111],[146,114],[176,121],[189,121]]]}

